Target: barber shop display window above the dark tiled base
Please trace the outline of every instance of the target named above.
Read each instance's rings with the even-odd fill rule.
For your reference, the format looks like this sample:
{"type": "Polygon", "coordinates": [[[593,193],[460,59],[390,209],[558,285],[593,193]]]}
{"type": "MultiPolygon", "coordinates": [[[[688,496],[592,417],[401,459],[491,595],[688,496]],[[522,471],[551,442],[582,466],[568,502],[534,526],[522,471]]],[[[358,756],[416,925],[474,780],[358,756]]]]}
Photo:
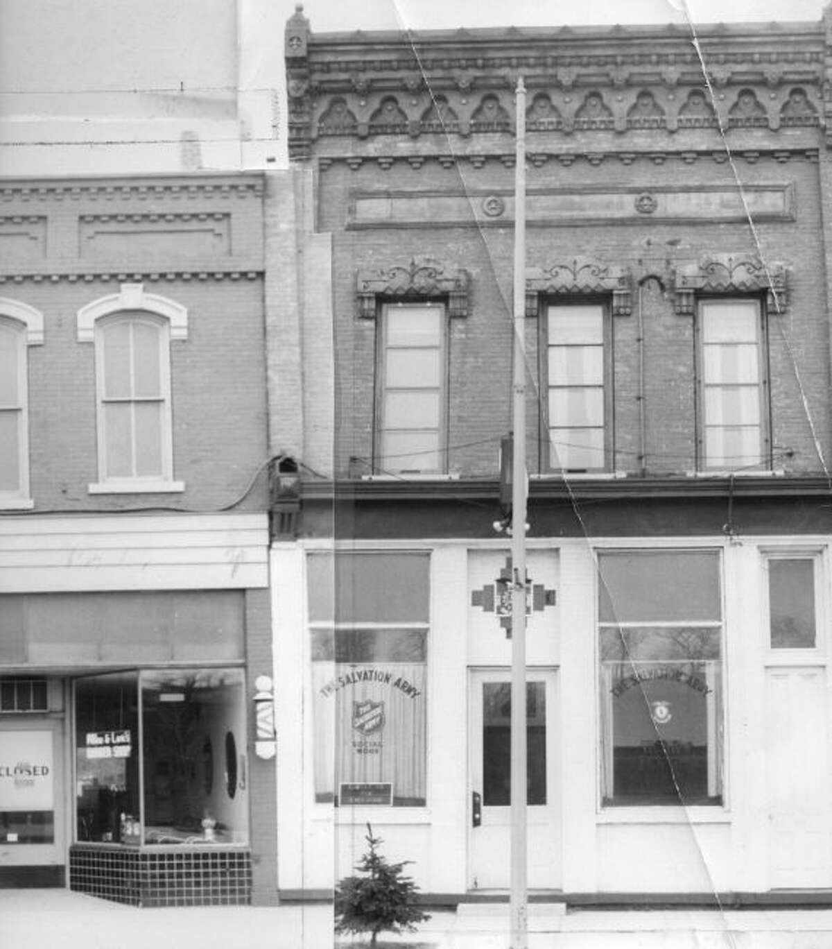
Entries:
{"type": "Polygon", "coordinates": [[[241,669],[75,683],[76,834],[124,845],[248,841],[241,669]]]}

